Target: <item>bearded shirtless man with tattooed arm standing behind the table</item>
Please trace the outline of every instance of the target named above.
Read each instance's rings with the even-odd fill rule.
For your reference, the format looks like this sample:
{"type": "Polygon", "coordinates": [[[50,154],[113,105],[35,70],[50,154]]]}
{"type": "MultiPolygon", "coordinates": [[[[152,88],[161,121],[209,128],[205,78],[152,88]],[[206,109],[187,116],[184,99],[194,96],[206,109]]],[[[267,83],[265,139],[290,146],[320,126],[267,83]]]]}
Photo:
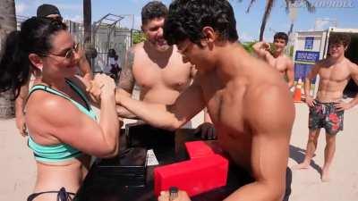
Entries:
{"type": "MultiPolygon", "coordinates": [[[[163,38],[166,5],[152,1],[141,10],[141,21],[147,40],[133,46],[126,55],[124,69],[118,83],[125,96],[132,96],[135,82],[141,88],[140,99],[149,103],[171,105],[183,89],[188,88],[195,69],[183,63],[176,46],[168,46],[163,38]]],[[[135,119],[136,115],[124,107],[117,107],[118,115],[135,119]]],[[[198,127],[203,138],[215,138],[215,131],[204,111],[204,123],[198,127]]]]}

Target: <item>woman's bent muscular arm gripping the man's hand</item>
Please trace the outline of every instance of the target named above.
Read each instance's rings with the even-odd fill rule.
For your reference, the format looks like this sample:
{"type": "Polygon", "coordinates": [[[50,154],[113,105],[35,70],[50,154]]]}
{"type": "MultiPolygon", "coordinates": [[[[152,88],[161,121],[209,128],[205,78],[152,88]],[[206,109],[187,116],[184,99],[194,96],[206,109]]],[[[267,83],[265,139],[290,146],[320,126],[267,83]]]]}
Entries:
{"type": "Polygon", "coordinates": [[[26,116],[29,130],[48,134],[89,155],[115,156],[119,149],[120,128],[115,113],[115,82],[105,75],[98,80],[103,84],[99,122],[62,96],[35,93],[31,103],[36,105],[28,105],[29,115],[26,116]]]}

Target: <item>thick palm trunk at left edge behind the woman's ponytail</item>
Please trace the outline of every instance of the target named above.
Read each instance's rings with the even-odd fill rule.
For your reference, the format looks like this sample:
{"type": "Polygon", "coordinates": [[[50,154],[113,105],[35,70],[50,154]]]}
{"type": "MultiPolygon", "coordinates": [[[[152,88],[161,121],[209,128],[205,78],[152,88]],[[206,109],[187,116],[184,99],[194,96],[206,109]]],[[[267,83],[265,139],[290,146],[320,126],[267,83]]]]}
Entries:
{"type": "MultiPolygon", "coordinates": [[[[4,41],[9,32],[16,29],[16,15],[14,0],[2,0],[0,2],[0,51],[4,49],[4,41]]],[[[0,54],[1,58],[2,54],[0,54]]],[[[14,116],[13,91],[0,93],[0,118],[12,118],[14,116]]]]}

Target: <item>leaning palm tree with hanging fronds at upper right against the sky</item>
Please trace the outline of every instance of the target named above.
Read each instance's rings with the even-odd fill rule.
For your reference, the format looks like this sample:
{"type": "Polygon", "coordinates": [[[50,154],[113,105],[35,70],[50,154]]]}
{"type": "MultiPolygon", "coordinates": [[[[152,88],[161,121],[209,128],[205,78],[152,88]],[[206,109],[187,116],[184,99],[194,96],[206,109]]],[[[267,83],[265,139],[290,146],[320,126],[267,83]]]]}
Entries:
{"type": "MultiPolygon", "coordinates": [[[[286,13],[289,13],[289,8],[292,4],[294,4],[295,2],[301,2],[301,1],[303,1],[303,3],[306,4],[308,12],[313,13],[315,11],[315,7],[308,0],[285,0],[286,13]]],[[[251,0],[250,4],[246,10],[246,13],[250,12],[252,4],[255,2],[256,2],[256,0],[251,0]]],[[[262,39],[263,39],[263,33],[265,31],[266,23],[268,22],[268,17],[269,17],[269,15],[272,11],[272,8],[276,2],[277,2],[276,0],[266,0],[265,12],[263,13],[261,27],[260,27],[260,41],[262,41],[262,39]]]]}

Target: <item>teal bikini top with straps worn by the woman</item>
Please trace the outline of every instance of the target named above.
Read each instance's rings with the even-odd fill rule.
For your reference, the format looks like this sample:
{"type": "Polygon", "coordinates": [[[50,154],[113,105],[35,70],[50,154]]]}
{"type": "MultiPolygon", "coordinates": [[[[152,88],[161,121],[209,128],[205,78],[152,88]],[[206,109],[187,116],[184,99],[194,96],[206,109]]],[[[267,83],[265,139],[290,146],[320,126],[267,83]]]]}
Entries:
{"type": "MultiPolygon", "coordinates": [[[[35,85],[30,89],[29,96],[37,90],[43,90],[50,94],[54,94],[57,96],[62,96],[66,98],[67,100],[71,101],[73,105],[75,105],[82,113],[85,113],[88,115],[91,119],[96,120],[96,113],[93,112],[93,110],[90,107],[89,100],[87,97],[83,94],[81,88],[77,87],[71,80],[66,80],[66,83],[79,95],[81,96],[81,99],[84,101],[86,107],[83,105],[77,103],[76,101],[72,100],[69,96],[66,96],[64,93],[55,90],[54,88],[50,88],[45,85],[35,85]]],[[[69,160],[74,157],[78,157],[82,155],[81,151],[77,150],[76,148],[73,148],[67,144],[61,143],[57,145],[51,145],[51,146],[42,146],[38,145],[29,134],[29,141],[28,146],[30,149],[33,150],[33,153],[35,155],[35,159],[37,161],[41,162],[60,162],[64,160],[69,160]]]]}

